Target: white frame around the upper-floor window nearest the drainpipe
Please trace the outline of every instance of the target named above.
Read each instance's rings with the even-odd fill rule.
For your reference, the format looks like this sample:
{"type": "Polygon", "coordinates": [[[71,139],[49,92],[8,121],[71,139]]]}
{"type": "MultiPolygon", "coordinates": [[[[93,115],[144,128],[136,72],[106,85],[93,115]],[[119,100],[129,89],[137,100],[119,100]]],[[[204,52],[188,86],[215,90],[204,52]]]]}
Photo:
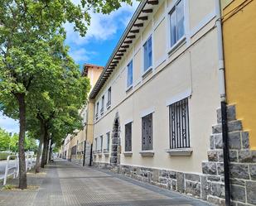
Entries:
{"type": "Polygon", "coordinates": [[[186,39],[187,39],[187,26],[186,26],[186,22],[187,22],[187,10],[186,10],[186,7],[187,7],[187,3],[186,3],[186,0],[176,0],[175,2],[173,2],[171,4],[171,7],[168,8],[168,12],[167,12],[167,20],[168,20],[168,23],[167,23],[167,29],[168,29],[168,54],[170,54],[173,50],[176,50],[177,47],[181,46],[182,43],[186,42],[186,39]],[[179,40],[176,41],[176,43],[171,46],[171,11],[173,9],[176,9],[176,6],[179,2],[183,1],[183,12],[184,12],[184,35],[181,36],[181,38],[179,40]]]}

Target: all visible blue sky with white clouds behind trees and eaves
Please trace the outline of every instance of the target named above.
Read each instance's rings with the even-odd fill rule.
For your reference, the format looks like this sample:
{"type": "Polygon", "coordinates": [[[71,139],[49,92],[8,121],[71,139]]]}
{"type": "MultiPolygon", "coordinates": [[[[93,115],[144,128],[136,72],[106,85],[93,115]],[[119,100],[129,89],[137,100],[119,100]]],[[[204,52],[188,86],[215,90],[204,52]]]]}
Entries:
{"type": "MultiPolygon", "coordinates": [[[[73,2],[78,3],[80,0],[73,2]]],[[[80,65],[80,69],[85,63],[106,65],[137,7],[138,2],[133,0],[133,6],[123,4],[109,15],[91,13],[91,23],[85,37],[73,31],[73,25],[65,24],[67,32],[65,44],[70,46],[70,55],[80,65]]],[[[0,127],[7,132],[19,132],[18,122],[3,116],[1,111],[0,127]]]]}

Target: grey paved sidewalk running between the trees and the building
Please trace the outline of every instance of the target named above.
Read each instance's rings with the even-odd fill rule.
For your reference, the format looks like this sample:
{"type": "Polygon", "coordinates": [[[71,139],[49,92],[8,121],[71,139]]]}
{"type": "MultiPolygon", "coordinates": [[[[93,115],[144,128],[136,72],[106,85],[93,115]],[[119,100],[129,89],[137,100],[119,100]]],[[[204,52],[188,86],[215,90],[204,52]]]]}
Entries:
{"type": "Polygon", "coordinates": [[[47,166],[40,188],[31,191],[0,191],[5,206],[167,206],[210,205],[197,199],[144,184],[104,170],[81,167],[65,160],[47,166]]]}

